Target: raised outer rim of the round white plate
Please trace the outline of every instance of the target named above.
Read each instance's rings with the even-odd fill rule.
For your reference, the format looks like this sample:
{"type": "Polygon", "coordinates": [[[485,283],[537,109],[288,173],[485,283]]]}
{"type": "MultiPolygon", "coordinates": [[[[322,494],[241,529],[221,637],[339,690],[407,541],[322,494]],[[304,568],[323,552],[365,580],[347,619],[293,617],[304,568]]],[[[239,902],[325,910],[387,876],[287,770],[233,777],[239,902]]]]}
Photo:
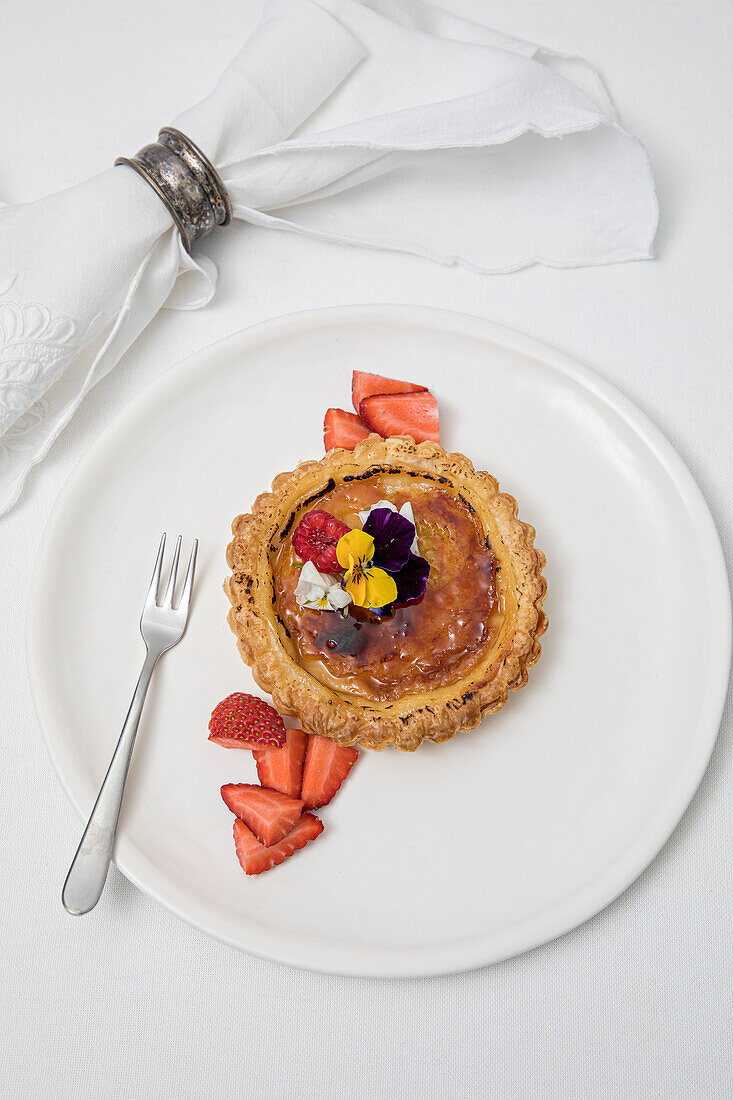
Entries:
{"type": "MultiPolygon", "coordinates": [[[[714,604],[720,610],[714,623],[714,631],[711,631],[716,638],[711,650],[720,657],[719,669],[713,670],[712,684],[714,689],[719,683],[720,689],[718,692],[711,689],[701,706],[698,719],[699,733],[694,743],[696,751],[692,754],[688,770],[679,778],[674,791],[668,792],[647,828],[601,876],[593,878],[590,883],[564,899],[561,904],[549,912],[544,911],[519,925],[511,926],[504,933],[492,933],[490,937],[492,947],[485,936],[478,936],[469,941],[450,941],[439,949],[434,947],[383,949],[376,955],[370,947],[351,945],[335,949],[328,941],[272,932],[261,925],[252,924],[248,926],[249,935],[237,936],[227,931],[226,921],[217,921],[215,911],[194,902],[192,912],[190,901],[186,908],[186,892],[177,884],[166,880],[164,890],[156,890],[155,883],[151,884],[145,878],[144,865],[149,862],[147,857],[136,846],[131,845],[129,853],[123,850],[118,854],[116,849],[114,862],[118,869],[134,886],[187,924],[232,947],[283,965],[339,976],[434,977],[492,965],[539,947],[572,931],[610,905],[646,870],[674,833],[700,785],[718,738],[727,695],[732,645],[730,585],[720,536],[702,491],[687,464],[650,418],[614,385],[571,355],[535,337],[469,314],[426,306],[363,304],[307,309],[270,318],[215,341],[167,367],[140,391],[97,436],[66,479],[46,521],[33,568],[25,618],[26,669],[33,707],[46,751],[69,801],[77,814],[83,817],[75,782],[69,777],[70,762],[64,759],[59,745],[64,738],[57,730],[55,739],[52,739],[53,707],[45,695],[42,678],[34,671],[37,667],[35,658],[42,634],[39,625],[43,619],[40,578],[50,568],[50,547],[53,544],[53,535],[61,522],[67,499],[70,498],[77,483],[84,481],[84,474],[94,463],[98,448],[105,444],[110,435],[133,419],[138,409],[154,399],[158,392],[171,386],[175,387],[186,375],[200,370],[200,364],[212,355],[217,358],[227,354],[230,348],[238,348],[245,353],[248,348],[277,340],[288,333],[365,320],[370,323],[403,322],[418,324],[422,328],[439,327],[444,331],[459,336],[475,337],[538,360],[581,384],[610,406],[648,448],[677,491],[698,532],[701,553],[709,566],[708,575],[714,604]],[[715,598],[715,595],[720,598],[715,598]],[[700,732],[704,730],[709,733],[703,737],[700,732]],[[128,856],[132,857],[131,860],[128,856]]],[[[123,837],[122,839],[124,842],[123,837]]],[[[124,843],[122,847],[124,849],[124,843]]]]}

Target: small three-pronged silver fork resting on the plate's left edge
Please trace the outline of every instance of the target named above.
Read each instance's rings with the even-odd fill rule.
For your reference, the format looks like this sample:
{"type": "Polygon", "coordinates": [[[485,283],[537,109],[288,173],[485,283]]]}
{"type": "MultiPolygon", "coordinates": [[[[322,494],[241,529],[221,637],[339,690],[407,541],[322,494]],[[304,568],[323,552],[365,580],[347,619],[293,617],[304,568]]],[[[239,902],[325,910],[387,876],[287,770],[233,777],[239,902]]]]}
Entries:
{"type": "Polygon", "coordinates": [[[184,581],[180,600],[178,601],[178,605],[174,607],[173,593],[176,586],[178,559],[180,557],[180,536],[178,536],[163,603],[158,604],[161,569],[165,552],[165,535],[161,539],[157,558],[155,559],[155,569],[153,570],[153,579],[150,582],[145,605],[140,617],[140,632],[143,636],[146,649],[142,672],[140,673],[138,686],[132,696],[130,710],[124,719],[114,755],[107,769],[105,782],[97,795],[97,801],[89,815],[87,827],[84,831],[76,856],[68,869],[66,882],[62,891],[64,909],[74,916],[88,913],[89,910],[94,909],[105,889],[107,871],[109,870],[109,862],[112,857],[114,833],[117,832],[117,823],[122,805],[124,781],[128,778],[132,747],[135,744],[135,734],[138,733],[145,695],[147,694],[147,685],[150,684],[158,657],[180,640],[186,628],[190,591],[194,585],[194,572],[196,570],[197,549],[198,539],[194,539],[194,547],[188,560],[188,569],[186,570],[186,580],[184,581]]]}

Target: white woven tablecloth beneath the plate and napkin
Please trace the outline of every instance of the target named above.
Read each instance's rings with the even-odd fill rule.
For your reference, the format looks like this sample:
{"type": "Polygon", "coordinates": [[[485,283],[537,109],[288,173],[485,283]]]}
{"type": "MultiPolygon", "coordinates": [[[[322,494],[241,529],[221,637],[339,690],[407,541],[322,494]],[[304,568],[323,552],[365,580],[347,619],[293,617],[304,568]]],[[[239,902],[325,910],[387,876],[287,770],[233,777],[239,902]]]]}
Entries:
{"type": "MultiPolygon", "coordinates": [[[[721,95],[730,6],[494,0],[489,18],[482,0],[442,2],[581,54],[612,77],[621,114],[655,164],[658,258],[488,277],[236,226],[237,263],[223,233],[208,249],[220,272],[210,306],[161,314],[85,400],[0,520],[3,1100],[710,1100],[733,1091],[730,710],[690,811],[641,880],[583,927],[500,966],[404,982],[289,970],[208,941],[117,871],[89,917],[61,908],[80,822],[28,693],[33,558],[56,494],[103,426],[149,378],[212,340],[353,301],[414,301],[523,329],[588,363],[656,420],[705,493],[731,560],[733,142],[722,141],[721,95]]],[[[198,0],[178,0],[175,18],[165,0],[6,6],[0,194],[19,202],[72,186],[205,96],[258,15],[242,0],[211,9],[207,26],[198,0]]]]}

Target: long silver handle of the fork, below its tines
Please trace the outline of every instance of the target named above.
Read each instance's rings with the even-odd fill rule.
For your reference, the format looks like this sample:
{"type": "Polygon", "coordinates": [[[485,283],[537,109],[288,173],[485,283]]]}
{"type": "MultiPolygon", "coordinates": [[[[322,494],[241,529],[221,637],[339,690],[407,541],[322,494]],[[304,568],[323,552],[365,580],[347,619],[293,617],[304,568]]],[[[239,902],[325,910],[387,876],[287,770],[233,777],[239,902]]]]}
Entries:
{"type": "Polygon", "coordinates": [[[160,653],[151,654],[150,650],[145,653],[120,739],[64,882],[62,902],[66,912],[74,916],[94,909],[105,889],[135,734],[158,656],[160,653]]]}

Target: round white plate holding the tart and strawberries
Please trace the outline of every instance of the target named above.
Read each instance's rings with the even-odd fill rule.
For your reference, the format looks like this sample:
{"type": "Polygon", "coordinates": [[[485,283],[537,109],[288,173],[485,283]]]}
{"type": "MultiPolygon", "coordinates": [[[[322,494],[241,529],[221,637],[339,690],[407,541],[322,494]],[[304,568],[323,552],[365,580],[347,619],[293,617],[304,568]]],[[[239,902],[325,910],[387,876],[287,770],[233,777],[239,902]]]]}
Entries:
{"type": "Polygon", "coordinates": [[[237,947],[350,975],[505,958],[624,890],[700,782],[731,646],[716,531],[656,428],[544,344],[426,309],[319,310],[198,353],[124,410],[58,499],[29,616],[37,714],[84,815],[142,660],[164,529],[199,537],[197,592],[153,682],[116,860],[237,947]],[[225,548],[276,473],[321,453],[352,367],[427,384],[446,446],[517,497],[547,553],[549,630],[500,715],[416,754],[363,754],[324,835],[247,878],[219,785],[252,780],[253,762],[207,743],[212,706],[256,690],[226,623],[225,548]]]}

